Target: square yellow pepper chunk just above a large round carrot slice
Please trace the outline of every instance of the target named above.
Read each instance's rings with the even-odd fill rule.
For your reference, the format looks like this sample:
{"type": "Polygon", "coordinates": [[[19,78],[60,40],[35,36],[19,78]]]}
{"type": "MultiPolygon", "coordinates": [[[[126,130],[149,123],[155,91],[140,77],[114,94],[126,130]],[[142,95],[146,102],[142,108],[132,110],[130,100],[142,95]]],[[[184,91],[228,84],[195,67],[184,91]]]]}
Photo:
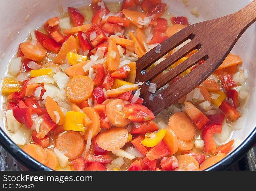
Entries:
{"type": "Polygon", "coordinates": [[[77,111],[68,111],[65,117],[64,130],[84,132],[83,119],[84,113],[77,111]]]}

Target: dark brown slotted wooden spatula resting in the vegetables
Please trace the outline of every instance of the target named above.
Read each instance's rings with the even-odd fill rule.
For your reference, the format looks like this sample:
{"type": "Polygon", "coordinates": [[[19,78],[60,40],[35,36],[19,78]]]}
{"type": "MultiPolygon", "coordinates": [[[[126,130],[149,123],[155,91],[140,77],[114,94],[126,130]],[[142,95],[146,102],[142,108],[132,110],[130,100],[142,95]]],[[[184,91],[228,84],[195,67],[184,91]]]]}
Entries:
{"type": "Polygon", "coordinates": [[[236,13],[187,26],[139,58],[136,61],[136,82],[144,82],[140,86],[140,97],[144,98],[143,105],[148,107],[154,114],[157,114],[191,92],[221,65],[243,32],[255,20],[256,1],[253,1],[236,13]],[[188,44],[145,72],[145,69],[159,60],[159,58],[188,39],[191,39],[188,44]],[[198,49],[198,51],[191,57],[160,78],[154,79],[173,63],[195,49],[198,49]],[[155,83],[158,90],[202,59],[205,60],[203,64],[160,93],[155,95],[148,92],[150,83],[155,83]],[[151,100],[155,95],[152,101],[149,100],[150,95],[152,95],[151,100]]]}

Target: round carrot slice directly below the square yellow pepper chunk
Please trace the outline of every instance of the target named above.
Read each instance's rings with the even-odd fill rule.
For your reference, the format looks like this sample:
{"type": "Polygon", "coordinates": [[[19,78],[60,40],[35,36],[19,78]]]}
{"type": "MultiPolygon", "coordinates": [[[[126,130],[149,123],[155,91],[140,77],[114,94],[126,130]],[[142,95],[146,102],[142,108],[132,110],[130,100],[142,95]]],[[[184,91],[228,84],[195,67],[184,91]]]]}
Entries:
{"type": "Polygon", "coordinates": [[[84,148],[83,137],[77,131],[67,131],[56,139],[56,147],[69,159],[79,157],[84,148]]]}

